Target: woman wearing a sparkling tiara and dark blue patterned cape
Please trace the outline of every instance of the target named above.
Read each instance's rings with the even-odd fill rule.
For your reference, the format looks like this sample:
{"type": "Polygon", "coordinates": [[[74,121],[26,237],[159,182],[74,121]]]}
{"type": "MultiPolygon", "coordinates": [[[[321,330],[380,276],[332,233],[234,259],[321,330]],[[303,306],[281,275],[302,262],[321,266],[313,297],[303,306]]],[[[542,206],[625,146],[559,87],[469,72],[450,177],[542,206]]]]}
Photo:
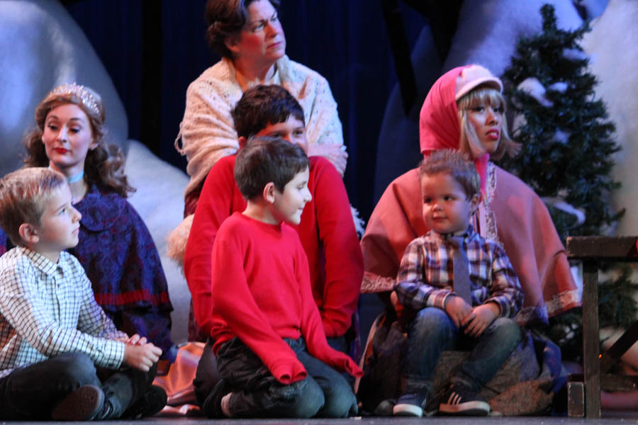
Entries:
{"type": "Polygon", "coordinates": [[[105,118],[93,90],[75,83],[56,87],[35,108],[37,126],[24,140],[24,162],[67,176],[82,213],[79,244],[69,252],[82,263],[96,301],[118,329],[145,336],[172,361],[177,351],[164,270],[147,227],[126,200],[135,189],[120,148],[104,141],[105,118]]]}

